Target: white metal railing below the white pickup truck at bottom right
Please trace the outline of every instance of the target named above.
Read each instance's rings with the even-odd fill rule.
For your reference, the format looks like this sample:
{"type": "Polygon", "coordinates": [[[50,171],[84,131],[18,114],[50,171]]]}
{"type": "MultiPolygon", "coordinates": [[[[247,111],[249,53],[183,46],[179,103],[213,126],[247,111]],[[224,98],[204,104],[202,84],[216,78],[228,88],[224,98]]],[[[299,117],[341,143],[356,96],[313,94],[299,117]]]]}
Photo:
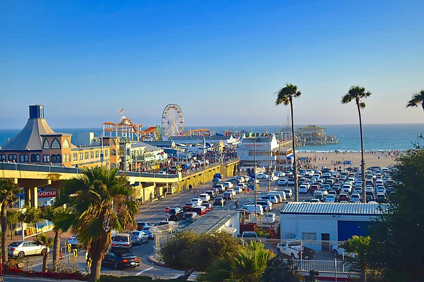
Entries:
{"type": "MultiPolygon", "coordinates": [[[[288,260],[287,260],[288,261],[288,260]]],[[[334,260],[306,260],[306,259],[293,259],[293,266],[299,268],[300,271],[308,272],[315,270],[322,272],[338,272],[338,273],[359,273],[355,269],[352,262],[347,261],[334,261],[334,260]]]]}

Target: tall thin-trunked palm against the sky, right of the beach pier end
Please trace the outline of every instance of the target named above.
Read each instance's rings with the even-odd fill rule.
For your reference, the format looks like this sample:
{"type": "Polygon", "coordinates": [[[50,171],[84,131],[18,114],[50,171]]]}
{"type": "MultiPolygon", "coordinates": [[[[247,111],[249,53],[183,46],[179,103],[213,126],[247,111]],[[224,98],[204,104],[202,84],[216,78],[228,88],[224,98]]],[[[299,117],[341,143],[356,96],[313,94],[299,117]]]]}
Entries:
{"type": "Polygon", "coordinates": [[[361,109],[365,108],[365,103],[362,99],[367,98],[371,95],[371,92],[365,92],[365,88],[358,85],[352,86],[349,92],[342,97],[342,104],[347,104],[355,101],[358,108],[359,115],[359,131],[361,133],[361,177],[362,177],[362,202],[365,203],[365,161],[364,161],[364,138],[362,135],[362,117],[361,109]]]}

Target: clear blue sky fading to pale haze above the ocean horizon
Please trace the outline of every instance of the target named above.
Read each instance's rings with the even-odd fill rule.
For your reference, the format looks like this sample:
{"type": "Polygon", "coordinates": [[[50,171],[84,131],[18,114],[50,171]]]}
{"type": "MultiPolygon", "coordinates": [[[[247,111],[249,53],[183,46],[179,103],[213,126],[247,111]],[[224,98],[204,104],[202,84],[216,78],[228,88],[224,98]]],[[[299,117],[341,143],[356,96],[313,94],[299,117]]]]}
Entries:
{"type": "Polygon", "coordinates": [[[297,124],[422,123],[423,1],[2,1],[0,129],[28,105],[53,128],[144,128],[178,104],[187,126],[277,125],[293,83],[297,124]]]}

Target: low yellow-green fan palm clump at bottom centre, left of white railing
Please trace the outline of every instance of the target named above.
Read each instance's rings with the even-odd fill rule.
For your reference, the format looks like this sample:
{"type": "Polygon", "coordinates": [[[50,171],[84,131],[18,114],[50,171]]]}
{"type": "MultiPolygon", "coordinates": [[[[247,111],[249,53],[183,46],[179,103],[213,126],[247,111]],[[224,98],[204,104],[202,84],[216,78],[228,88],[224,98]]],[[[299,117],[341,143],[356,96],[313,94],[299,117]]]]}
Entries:
{"type": "Polygon", "coordinates": [[[272,251],[265,249],[260,242],[240,246],[236,253],[228,260],[215,260],[206,273],[199,276],[201,281],[234,281],[257,282],[265,271],[269,259],[274,256],[272,251]]]}

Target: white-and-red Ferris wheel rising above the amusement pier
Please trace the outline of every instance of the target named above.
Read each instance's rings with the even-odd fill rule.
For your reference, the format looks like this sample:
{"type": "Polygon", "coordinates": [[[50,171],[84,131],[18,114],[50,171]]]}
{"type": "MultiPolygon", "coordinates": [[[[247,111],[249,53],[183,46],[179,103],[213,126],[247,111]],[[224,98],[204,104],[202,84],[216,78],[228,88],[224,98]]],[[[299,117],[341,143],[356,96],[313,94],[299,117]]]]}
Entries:
{"type": "Polygon", "coordinates": [[[181,108],[169,104],[162,114],[162,132],[165,137],[178,136],[184,130],[184,117],[181,108]]]}

